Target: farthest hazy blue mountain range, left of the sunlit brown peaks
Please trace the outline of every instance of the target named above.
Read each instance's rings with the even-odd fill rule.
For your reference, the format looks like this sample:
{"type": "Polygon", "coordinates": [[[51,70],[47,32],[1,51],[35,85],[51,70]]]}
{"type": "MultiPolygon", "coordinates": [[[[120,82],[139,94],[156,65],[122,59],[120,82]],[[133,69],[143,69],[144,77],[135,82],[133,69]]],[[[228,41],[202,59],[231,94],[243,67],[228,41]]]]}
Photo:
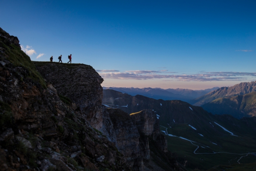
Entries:
{"type": "Polygon", "coordinates": [[[142,95],[153,99],[163,100],[182,100],[189,102],[199,96],[216,90],[219,87],[213,87],[206,90],[189,90],[189,89],[161,89],[161,88],[126,88],[126,87],[103,87],[103,89],[116,90],[121,93],[127,93],[131,96],[142,95]]]}

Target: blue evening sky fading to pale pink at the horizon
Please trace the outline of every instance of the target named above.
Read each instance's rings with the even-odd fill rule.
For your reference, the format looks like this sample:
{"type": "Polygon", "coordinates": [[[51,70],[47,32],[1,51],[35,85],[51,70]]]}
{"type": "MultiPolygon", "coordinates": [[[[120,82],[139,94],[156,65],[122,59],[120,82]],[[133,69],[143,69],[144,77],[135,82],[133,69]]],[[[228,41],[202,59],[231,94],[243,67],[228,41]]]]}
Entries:
{"type": "Polygon", "coordinates": [[[0,0],[32,61],[92,66],[104,87],[202,90],[256,81],[255,0],[0,0]]]}

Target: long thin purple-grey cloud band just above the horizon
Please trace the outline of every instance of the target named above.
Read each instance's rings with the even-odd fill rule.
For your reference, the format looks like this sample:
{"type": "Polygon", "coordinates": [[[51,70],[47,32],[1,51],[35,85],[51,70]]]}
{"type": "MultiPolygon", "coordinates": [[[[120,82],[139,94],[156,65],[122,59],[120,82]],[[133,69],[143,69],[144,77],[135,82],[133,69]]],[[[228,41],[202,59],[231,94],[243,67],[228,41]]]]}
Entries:
{"type": "Polygon", "coordinates": [[[166,78],[163,81],[244,81],[248,77],[256,77],[256,72],[200,72],[196,74],[171,74],[167,70],[133,70],[125,72],[99,73],[103,78],[148,80],[166,78]]]}

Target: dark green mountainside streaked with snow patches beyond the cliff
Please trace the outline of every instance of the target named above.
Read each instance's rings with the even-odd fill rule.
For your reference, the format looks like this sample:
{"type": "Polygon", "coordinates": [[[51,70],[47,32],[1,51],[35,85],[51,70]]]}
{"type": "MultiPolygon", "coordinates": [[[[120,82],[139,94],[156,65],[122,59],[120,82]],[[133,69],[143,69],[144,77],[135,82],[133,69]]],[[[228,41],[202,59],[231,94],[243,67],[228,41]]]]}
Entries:
{"type": "MultiPolygon", "coordinates": [[[[242,99],[254,99],[248,95],[242,99]]],[[[213,115],[180,100],[156,100],[115,90],[103,90],[102,104],[127,113],[153,110],[168,141],[168,150],[178,162],[186,163],[186,168],[206,170],[215,165],[236,164],[240,158],[241,163],[255,161],[256,117],[239,120],[230,115],[213,115]]]]}

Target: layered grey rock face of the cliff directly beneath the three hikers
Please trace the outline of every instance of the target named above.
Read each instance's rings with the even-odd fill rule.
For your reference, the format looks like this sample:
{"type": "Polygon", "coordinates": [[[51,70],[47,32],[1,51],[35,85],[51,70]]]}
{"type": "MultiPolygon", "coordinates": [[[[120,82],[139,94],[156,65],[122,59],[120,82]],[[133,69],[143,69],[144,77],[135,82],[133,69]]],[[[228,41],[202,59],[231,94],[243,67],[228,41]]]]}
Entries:
{"type": "Polygon", "coordinates": [[[70,98],[84,119],[93,128],[102,128],[102,87],[103,79],[93,69],[84,64],[43,64],[34,62],[41,75],[50,82],[59,94],[70,98]]]}

